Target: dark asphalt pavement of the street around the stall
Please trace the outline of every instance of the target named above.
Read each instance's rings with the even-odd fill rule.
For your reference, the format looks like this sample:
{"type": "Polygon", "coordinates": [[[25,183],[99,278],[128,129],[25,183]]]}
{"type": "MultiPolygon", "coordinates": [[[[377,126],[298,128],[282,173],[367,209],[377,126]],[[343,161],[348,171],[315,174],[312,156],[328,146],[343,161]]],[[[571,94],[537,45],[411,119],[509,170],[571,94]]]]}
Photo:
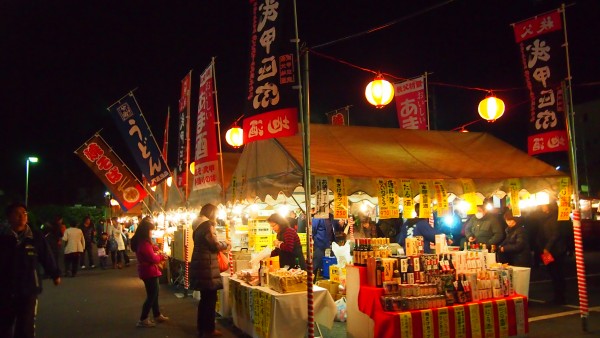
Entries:
{"type": "MultiPolygon", "coordinates": [[[[530,284],[529,337],[599,337],[600,336],[600,252],[586,254],[588,292],[590,294],[589,332],[581,330],[577,312],[576,280],[568,277],[567,306],[545,303],[551,298],[551,285],[543,268],[534,268],[530,284]],[[595,308],[598,307],[598,308],[595,308]]],[[[569,262],[569,265],[574,265],[569,262]]],[[[574,268],[567,269],[574,276],[574,268]]],[[[136,328],[145,298],[144,285],[136,276],[135,261],[123,270],[83,270],[76,278],[64,278],[54,287],[44,282],[40,297],[37,334],[42,338],[74,337],[195,337],[197,301],[192,297],[178,298],[173,287],[161,285],[160,306],[171,320],[156,328],[136,328]]],[[[218,320],[224,337],[244,337],[227,320],[218,320]]],[[[324,337],[345,337],[345,327],[336,323],[333,331],[323,330],[324,337]]]]}

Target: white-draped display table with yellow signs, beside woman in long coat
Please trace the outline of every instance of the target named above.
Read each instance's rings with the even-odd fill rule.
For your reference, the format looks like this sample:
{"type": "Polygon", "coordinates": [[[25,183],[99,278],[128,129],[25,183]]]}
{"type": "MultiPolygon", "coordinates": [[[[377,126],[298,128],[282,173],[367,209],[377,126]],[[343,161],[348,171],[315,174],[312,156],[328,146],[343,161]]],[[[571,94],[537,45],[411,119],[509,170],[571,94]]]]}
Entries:
{"type": "MultiPolygon", "coordinates": [[[[279,293],[268,287],[250,286],[236,278],[227,281],[233,323],[248,335],[258,337],[302,338],[306,334],[307,293],[279,293]]],[[[329,292],[313,287],[315,322],[333,326],[336,306],[329,292]]],[[[316,329],[315,329],[316,330],[316,329]]]]}

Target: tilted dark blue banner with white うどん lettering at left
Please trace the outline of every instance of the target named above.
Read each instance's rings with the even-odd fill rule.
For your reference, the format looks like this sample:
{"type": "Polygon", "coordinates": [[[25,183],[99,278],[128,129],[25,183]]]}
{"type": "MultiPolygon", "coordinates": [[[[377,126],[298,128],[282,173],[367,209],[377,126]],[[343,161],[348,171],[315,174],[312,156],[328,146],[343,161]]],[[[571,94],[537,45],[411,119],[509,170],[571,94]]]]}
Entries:
{"type": "Polygon", "coordinates": [[[169,177],[169,168],[133,93],[126,95],[108,110],[150,185],[166,180],[169,177]]]}

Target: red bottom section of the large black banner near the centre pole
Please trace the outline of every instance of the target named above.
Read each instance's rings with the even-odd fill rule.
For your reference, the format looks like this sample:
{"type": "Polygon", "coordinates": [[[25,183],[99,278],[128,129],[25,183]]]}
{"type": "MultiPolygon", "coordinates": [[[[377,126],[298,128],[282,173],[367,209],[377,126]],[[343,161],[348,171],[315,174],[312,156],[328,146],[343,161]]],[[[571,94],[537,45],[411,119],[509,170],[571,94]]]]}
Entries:
{"type": "Polygon", "coordinates": [[[274,137],[293,136],[298,132],[296,108],[287,108],[244,119],[244,144],[274,137]]]}

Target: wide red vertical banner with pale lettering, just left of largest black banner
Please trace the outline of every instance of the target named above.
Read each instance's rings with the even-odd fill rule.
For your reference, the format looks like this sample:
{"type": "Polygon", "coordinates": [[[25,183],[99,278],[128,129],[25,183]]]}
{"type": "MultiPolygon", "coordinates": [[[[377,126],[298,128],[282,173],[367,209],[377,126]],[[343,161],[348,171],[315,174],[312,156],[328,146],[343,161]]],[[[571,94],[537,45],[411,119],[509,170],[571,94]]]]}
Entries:
{"type": "Polygon", "coordinates": [[[213,74],[211,63],[200,75],[193,190],[210,188],[219,182],[213,74]]]}

